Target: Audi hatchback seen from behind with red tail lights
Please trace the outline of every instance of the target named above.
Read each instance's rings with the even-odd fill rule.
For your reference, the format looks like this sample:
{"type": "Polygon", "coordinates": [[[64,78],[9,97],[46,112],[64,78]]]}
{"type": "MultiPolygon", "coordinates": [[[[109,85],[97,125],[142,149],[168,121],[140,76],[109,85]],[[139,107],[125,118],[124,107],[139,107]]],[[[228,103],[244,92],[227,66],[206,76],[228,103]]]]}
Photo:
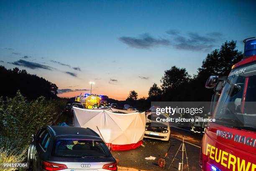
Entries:
{"type": "Polygon", "coordinates": [[[28,163],[32,171],[117,171],[107,145],[90,128],[47,126],[32,135],[28,163]]]}

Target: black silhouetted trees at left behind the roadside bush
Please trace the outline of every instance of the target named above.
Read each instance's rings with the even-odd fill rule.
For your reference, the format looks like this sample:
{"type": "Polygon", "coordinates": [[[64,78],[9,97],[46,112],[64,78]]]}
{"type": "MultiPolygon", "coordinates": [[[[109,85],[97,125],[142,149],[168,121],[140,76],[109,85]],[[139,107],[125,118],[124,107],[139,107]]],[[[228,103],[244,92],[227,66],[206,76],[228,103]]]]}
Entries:
{"type": "Polygon", "coordinates": [[[28,74],[26,70],[18,68],[6,69],[0,66],[1,89],[0,96],[14,97],[16,92],[20,90],[28,100],[36,99],[40,96],[46,99],[56,98],[56,84],[53,84],[42,77],[28,74]]]}

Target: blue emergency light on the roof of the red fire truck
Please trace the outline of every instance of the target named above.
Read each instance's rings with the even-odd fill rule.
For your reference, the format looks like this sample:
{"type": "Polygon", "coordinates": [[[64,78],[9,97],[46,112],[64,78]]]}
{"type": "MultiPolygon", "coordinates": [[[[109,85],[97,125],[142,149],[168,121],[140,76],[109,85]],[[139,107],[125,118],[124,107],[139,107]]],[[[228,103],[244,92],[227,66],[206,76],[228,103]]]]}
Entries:
{"type": "Polygon", "coordinates": [[[244,44],[244,58],[256,55],[256,37],[246,38],[244,44]]]}

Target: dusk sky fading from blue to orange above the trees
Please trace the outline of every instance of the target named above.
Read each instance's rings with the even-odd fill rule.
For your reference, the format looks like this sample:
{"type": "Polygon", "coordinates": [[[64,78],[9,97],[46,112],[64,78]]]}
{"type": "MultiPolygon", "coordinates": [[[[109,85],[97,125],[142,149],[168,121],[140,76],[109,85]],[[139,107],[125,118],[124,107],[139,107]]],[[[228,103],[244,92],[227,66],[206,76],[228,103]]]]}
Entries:
{"type": "MultiPolygon", "coordinates": [[[[26,69],[59,97],[147,97],[176,65],[197,73],[225,41],[256,36],[256,2],[0,0],[0,65],[26,69]]],[[[4,80],[2,80],[4,81],[4,80]]]]}

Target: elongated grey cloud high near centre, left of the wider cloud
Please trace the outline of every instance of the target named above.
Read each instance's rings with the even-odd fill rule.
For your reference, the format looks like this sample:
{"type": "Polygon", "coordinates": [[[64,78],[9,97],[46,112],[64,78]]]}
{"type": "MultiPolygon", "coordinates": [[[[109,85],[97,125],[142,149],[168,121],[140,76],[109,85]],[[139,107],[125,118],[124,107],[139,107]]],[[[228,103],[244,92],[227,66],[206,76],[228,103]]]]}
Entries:
{"type": "Polygon", "coordinates": [[[144,49],[148,49],[156,46],[162,46],[162,45],[166,46],[170,44],[170,41],[167,39],[153,38],[148,34],[143,34],[139,38],[120,37],[119,40],[133,48],[144,48],[144,49]]]}

